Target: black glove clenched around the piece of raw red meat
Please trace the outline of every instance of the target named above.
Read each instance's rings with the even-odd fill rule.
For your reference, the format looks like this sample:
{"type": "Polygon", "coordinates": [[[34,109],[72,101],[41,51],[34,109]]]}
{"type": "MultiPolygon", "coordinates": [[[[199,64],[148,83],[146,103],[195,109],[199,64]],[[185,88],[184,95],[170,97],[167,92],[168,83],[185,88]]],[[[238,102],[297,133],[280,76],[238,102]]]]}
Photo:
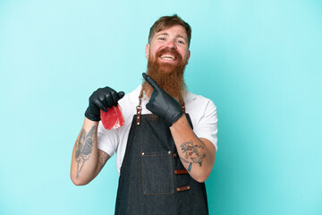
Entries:
{"type": "Polygon", "coordinates": [[[89,107],[85,116],[91,121],[100,120],[100,110],[107,111],[106,107],[117,106],[117,101],[124,96],[123,91],[116,92],[112,88],[98,88],[89,97],[89,107]]]}

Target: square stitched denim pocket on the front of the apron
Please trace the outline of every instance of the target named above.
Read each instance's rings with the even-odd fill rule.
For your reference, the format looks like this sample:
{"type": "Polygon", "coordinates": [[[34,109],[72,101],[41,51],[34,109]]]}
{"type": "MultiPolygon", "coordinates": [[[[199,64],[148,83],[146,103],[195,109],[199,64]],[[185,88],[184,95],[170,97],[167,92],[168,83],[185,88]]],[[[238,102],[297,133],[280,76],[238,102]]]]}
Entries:
{"type": "Polygon", "coordinates": [[[171,150],[141,151],[143,194],[174,193],[171,150]]]}

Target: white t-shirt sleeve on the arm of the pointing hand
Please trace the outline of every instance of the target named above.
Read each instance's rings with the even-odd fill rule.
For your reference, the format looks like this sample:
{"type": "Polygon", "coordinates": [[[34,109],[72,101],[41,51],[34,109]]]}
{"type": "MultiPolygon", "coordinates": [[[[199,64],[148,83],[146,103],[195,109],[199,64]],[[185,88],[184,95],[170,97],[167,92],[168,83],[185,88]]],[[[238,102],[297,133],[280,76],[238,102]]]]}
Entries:
{"type": "Polygon", "coordinates": [[[201,116],[198,125],[194,129],[194,133],[199,138],[206,138],[208,141],[212,142],[218,150],[217,146],[217,115],[216,115],[216,106],[212,100],[208,100],[208,103],[205,107],[203,116],[201,116]]]}

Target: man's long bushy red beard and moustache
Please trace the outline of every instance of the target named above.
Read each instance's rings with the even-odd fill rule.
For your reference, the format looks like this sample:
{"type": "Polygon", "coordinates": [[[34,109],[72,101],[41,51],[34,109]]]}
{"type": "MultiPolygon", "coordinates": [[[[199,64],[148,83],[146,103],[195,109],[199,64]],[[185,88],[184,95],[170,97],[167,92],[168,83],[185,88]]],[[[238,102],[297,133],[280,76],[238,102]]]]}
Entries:
{"type": "MultiPolygon", "coordinates": [[[[186,90],[186,85],[183,80],[183,72],[186,62],[182,61],[182,56],[174,49],[168,47],[157,52],[156,56],[148,57],[148,75],[153,78],[157,84],[170,94],[174,99],[177,99],[180,104],[183,103],[183,96],[186,90]],[[165,53],[171,53],[176,57],[176,64],[158,62],[158,56],[165,53]]],[[[150,97],[152,88],[147,82],[143,82],[143,90],[150,97]]]]}

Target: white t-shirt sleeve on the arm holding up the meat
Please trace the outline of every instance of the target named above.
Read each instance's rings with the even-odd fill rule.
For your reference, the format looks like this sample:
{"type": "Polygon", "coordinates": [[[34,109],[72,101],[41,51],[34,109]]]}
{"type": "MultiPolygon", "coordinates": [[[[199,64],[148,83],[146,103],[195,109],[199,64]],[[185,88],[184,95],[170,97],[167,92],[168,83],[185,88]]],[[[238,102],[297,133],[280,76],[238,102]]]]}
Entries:
{"type": "Polygon", "coordinates": [[[97,128],[97,148],[99,150],[104,150],[109,156],[112,157],[117,150],[118,142],[118,130],[106,130],[102,125],[102,122],[99,122],[97,128]]]}

